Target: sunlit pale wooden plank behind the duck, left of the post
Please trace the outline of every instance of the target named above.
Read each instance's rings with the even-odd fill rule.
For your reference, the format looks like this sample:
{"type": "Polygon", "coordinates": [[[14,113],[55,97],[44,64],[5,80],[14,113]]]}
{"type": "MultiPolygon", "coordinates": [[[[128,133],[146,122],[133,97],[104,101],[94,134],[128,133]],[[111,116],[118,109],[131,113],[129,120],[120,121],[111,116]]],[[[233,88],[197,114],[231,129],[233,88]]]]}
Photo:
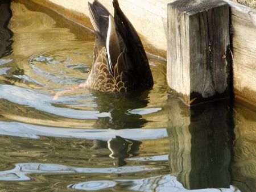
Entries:
{"type": "MultiPolygon", "coordinates": [[[[31,0],[51,7],[67,18],[92,27],[88,0],[31,0]]],[[[167,4],[175,0],[119,0],[119,5],[142,38],[146,51],[166,57],[167,4]]],[[[93,2],[93,0],[89,0],[93,2]]],[[[112,1],[100,1],[112,14],[112,1]]]]}

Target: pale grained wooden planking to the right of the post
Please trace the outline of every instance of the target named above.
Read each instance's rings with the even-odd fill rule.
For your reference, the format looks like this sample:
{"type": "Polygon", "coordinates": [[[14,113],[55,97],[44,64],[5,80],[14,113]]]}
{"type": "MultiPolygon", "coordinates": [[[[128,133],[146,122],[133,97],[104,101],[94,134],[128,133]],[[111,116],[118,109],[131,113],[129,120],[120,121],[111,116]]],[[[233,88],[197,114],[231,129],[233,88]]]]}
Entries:
{"type": "Polygon", "coordinates": [[[233,32],[233,82],[236,97],[256,103],[256,10],[229,2],[233,32]]]}

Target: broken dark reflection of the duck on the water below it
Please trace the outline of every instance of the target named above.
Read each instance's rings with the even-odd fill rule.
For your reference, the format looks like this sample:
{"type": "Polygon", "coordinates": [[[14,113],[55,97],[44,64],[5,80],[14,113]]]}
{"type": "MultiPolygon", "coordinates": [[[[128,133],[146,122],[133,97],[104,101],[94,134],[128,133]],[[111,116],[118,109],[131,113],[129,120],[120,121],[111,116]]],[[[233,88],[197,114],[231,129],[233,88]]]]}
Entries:
{"type": "MultiPolygon", "coordinates": [[[[109,117],[98,118],[93,125],[94,128],[140,128],[147,123],[142,115],[129,113],[129,110],[134,108],[147,106],[147,92],[144,92],[140,99],[131,97],[131,95],[119,95],[119,97],[101,93],[94,93],[94,95],[96,96],[94,101],[97,103],[96,110],[100,112],[109,111],[109,117]]],[[[93,143],[93,149],[109,149],[109,157],[113,158],[114,166],[126,165],[125,158],[137,156],[139,146],[142,144],[141,141],[120,136],[113,137],[108,141],[94,140],[93,143]]]]}

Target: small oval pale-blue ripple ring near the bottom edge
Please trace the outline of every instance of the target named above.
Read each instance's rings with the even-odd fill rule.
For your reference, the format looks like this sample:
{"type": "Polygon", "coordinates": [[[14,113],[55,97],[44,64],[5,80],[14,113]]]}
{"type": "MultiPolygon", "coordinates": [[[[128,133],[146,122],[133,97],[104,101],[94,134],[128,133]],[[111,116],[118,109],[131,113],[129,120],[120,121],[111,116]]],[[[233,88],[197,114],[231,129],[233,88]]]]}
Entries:
{"type": "Polygon", "coordinates": [[[68,188],[86,190],[86,191],[97,191],[101,189],[114,187],[115,185],[117,185],[117,182],[101,180],[101,181],[87,181],[87,182],[71,184],[68,186],[68,188]]]}

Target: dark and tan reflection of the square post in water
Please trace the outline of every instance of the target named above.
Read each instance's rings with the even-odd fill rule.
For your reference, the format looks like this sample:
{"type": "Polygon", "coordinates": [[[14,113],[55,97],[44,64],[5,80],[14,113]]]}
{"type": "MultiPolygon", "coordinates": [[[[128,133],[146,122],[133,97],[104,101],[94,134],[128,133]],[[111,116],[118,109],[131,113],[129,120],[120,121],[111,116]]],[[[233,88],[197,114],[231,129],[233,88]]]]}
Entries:
{"type": "Polygon", "coordinates": [[[229,188],[233,119],[229,101],[191,109],[170,98],[171,175],[187,189],[229,188]]]}

